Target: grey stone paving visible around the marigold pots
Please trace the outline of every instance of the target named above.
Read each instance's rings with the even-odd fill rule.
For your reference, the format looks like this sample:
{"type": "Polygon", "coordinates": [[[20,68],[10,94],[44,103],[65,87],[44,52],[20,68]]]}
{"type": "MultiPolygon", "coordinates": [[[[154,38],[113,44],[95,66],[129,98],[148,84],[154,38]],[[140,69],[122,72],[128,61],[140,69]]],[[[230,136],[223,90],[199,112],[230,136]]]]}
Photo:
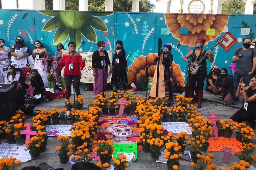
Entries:
{"type": "MultiPolygon", "coordinates": [[[[111,91],[107,91],[107,94],[111,91]]],[[[146,92],[134,92],[131,93],[132,95],[137,96],[146,96],[146,92]]],[[[88,103],[92,100],[94,100],[95,95],[92,93],[92,91],[84,91],[83,88],[81,88],[81,95],[84,97],[84,103],[88,103]]],[[[72,98],[72,96],[71,96],[72,98]]],[[[64,105],[64,99],[59,100],[53,100],[51,102],[43,103],[40,105],[37,105],[35,109],[45,109],[50,110],[51,108],[63,108],[64,105]]],[[[195,106],[197,106],[195,104],[195,106]]],[[[233,105],[234,107],[230,107],[223,103],[223,100],[218,99],[218,95],[213,95],[209,92],[204,92],[204,101],[202,103],[202,108],[198,108],[198,111],[203,116],[209,116],[210,112],[214,112],[215,115],[220,115],[222,119],[224,118],[230,118],[237,110],[242,106],[242,98],[240,98],[240,101],[237,102],[237,105],[233,105]]],[[[32,115],[29,116],[28,119],[26,119],[26,122],[32,122],[32,115]]],[[[189,138],[191,138],[192,135],[189,135],[189,138]]],[[[235,137],[233,134],[232,137],[235,137]]],[[[255,142],[255,137],[253,138],[253,141],[255,142]]],[[[4,141],[2,141],[4,142],[4,141]]],[[[48,144],[46,152],[41,153],[41,156],[37,160],[30,160],[28,162],[22,163],[22,165],[19,165],[18,169],[21,169],[25,166],[30,165],[39,165],[41,162],[46,162],[48,165],[52,166],[53,168],[63,167],[64,170],[71,170],[72,164],[61,164],[58,157],[58,152],[56,151],[56,146],[58,145],[58,141],[54,137],[48,138],[48,144]]],[[[191,146],[188,145],[186,150],[190,150],[191,146]]],[[[204,155],[207,155],[207,152],[203,153],[204,155]]],[[[255,154],[255,153],[254,153],[255,154]]],[[[214,152],[215,157],[212,158],[212,162],[216,164],[217,168],[224,168],[227,166],[227,164],[222,162],[223,158],[223,152],[214,152]]],[[[231,157],[231,163],[238,161],[237,156],[231,157]]],[[[93,163],[97,163],[96,161],[92,161],[93,163]]],[[[179,170],[185,170],[185,169],[192,169],[190,166],[190,162],[186,160],[180,159],[180,166],[179,170]]],[[[113,163],[113,162],[112,162],[113,163]]],[[[255,163],[252,163],[253,166],[256,166],[255,163]]],[[[157,163],[156,161],[152,161],[150,159],[150,153],[144,153],[144,152],[138,152],[137,160],[134,162],[129,162],[129,168],[127,170],[154,170],[154,169],[168,169],[167,165],[164,163],[157,163]]]]}

